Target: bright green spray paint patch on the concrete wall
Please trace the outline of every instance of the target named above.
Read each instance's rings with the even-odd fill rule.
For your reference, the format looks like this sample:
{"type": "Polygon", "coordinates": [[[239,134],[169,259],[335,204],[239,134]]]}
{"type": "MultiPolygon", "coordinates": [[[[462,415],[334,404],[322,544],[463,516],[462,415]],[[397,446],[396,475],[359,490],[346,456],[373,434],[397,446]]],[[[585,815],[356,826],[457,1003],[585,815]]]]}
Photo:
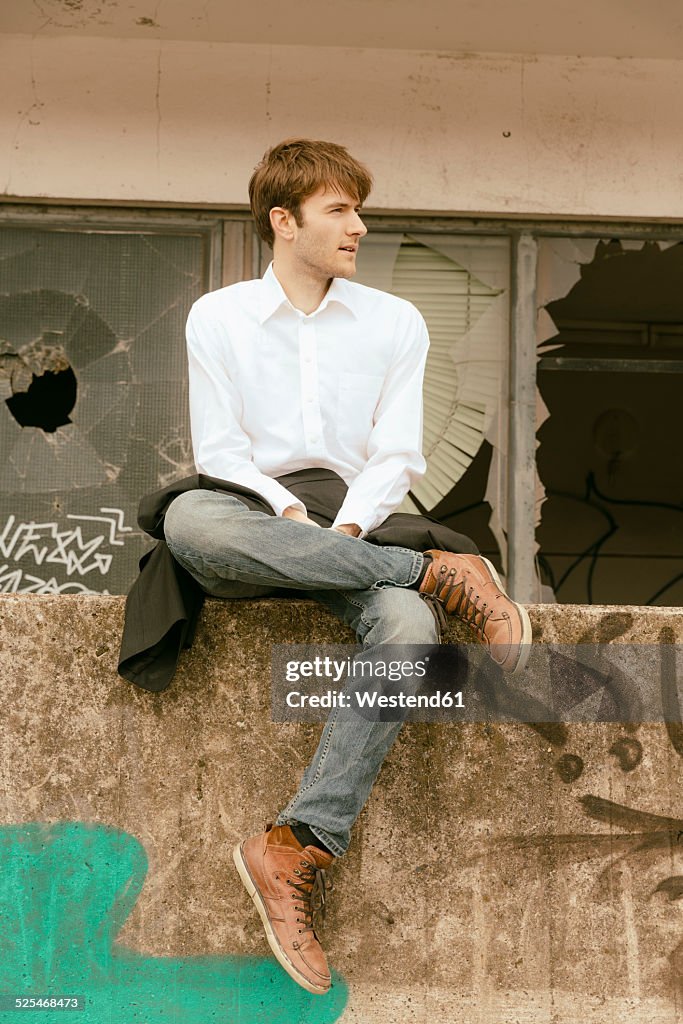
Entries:
{"type": "Polygon", "coordinates": [[[347,987],[310,995],[270,958],[148,956],[116,936],[142,889],[143,848],[81,822],[0,827],[0,994],[81,995],[65,1012],[0,1012],[40,1024],[333,1024],[347,987]]]}

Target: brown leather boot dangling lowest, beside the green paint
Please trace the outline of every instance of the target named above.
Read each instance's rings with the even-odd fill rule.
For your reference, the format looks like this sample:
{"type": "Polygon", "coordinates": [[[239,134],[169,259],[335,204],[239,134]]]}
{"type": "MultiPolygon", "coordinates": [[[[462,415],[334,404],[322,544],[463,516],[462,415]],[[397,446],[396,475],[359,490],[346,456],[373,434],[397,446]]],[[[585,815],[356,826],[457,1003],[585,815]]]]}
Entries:
{"type": "Polygon", "coordinates": [[[268,825],[259,836],[239,843],[232,859],[279,963],[303,988],[325,995],[330,970],[312,916],[331,888],[325,872],[333,855],[314,846],[302,847],[289,825],[268,825]]]}

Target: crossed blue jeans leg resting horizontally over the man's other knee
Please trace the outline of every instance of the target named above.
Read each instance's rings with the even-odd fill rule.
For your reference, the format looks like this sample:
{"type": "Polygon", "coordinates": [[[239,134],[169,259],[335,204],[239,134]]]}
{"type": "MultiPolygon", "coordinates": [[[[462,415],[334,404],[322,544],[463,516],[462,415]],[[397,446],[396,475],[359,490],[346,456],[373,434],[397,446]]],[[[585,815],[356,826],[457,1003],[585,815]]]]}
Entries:
{"type": "Polygon", "coordinates": [[[424,561],[418,551],[267,515],[214,490],[179,495],[164,530],[174,558],[215,597],[247,596],[234,594],[236,583],[306,591],[412,587],[424,561]]]}

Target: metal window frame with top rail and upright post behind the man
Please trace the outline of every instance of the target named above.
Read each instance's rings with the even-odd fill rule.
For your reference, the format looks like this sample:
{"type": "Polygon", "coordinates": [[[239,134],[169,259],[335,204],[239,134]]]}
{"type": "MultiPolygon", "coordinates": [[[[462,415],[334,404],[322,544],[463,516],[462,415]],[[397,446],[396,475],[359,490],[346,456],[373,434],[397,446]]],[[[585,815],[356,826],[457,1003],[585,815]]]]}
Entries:
{"type": "MultiPolygon", "coordinates": [[[[537,599],[536,553],[536,289],[539,242],[544,238],[683,242],[683,222],[598,218],[471,216],[458,213],[368,210],[374,230],[502,236],[510,240],[510,359],[508,377],[507,522],[508,590],[516,600],[537,599]]],[[[177,231],[194,228],[207,246],[209,289],[260,274],[266,247],[247,209],[155,208],[95,205],[1,204],[0,225],[93,231],[177,231]]]]}

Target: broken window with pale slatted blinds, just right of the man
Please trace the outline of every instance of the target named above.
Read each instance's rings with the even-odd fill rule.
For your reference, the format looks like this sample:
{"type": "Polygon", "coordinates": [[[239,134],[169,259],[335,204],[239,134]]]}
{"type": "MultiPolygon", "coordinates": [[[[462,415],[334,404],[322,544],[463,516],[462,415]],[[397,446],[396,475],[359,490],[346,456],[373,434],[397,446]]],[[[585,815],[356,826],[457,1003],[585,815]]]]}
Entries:
{"type": "Polygon", "coordinates": [[[427,471],[401,510],[429,512],[497,561],[487,480],[507,401],[509,253],[506,238],[377,231],[364,239],[354,279],[409,299],[429,330],[427,471]]]}

